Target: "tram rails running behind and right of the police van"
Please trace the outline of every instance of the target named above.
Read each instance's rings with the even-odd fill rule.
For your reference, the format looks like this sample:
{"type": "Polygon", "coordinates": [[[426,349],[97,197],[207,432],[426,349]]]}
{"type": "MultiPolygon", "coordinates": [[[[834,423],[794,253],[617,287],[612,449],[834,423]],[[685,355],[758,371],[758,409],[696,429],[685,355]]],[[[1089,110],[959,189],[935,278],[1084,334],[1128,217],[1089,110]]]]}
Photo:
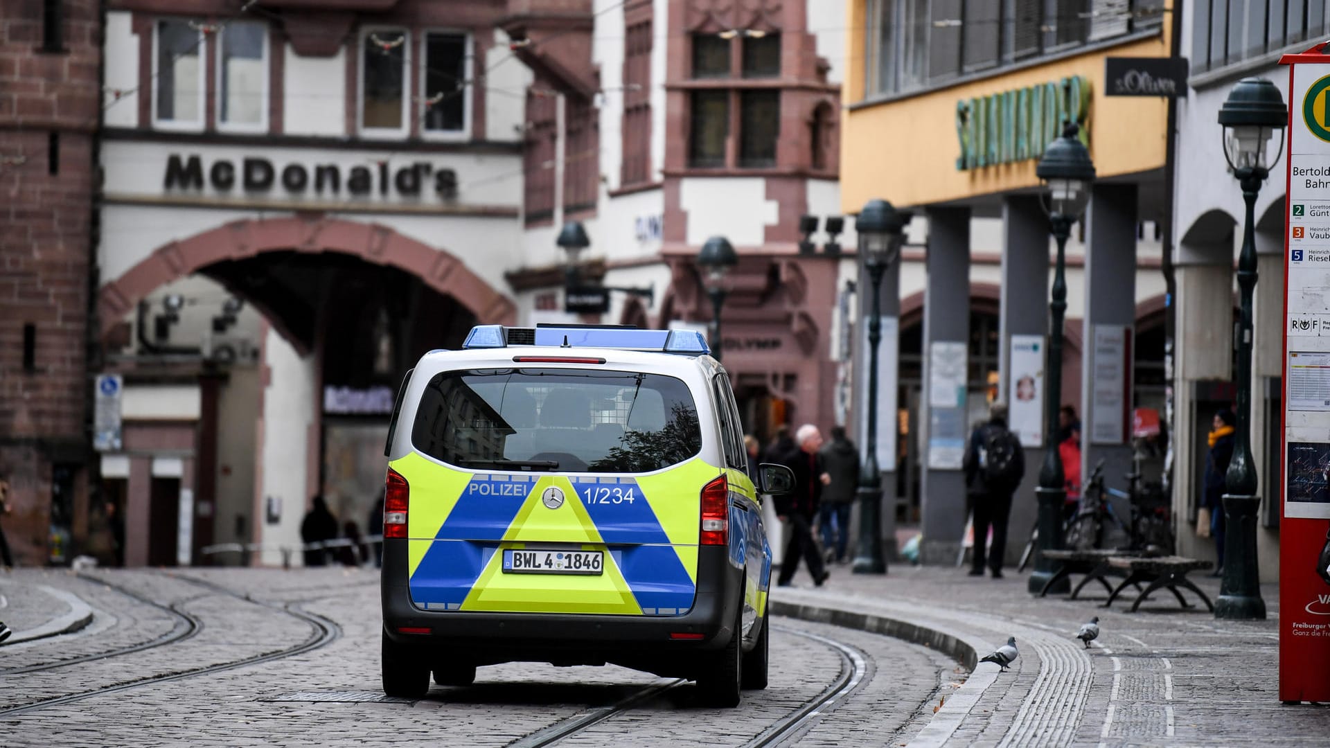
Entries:
{"type": "MultiPolygon", "coordinates": [[[[798,708],[789,712],[786,716],[775,720],[766,729],[758,732],[750,740],[745,741],[743,748],[763,748],[767,745],[778,745],[785,740],[795,736],[805,727],[811,727],[819,716],[826,711],[835,708],[837,701],[849,696],[859,684],[863,681],[867,673],[867,655],[857,647],[837,642],[835,639],[813,634],[810,631],[801,631],[798,628],[791,628],[787,626],[774,626],[774,631],[782,634],[789,634],[794,636],[802,636],[810,639],[819,644],[823,644],[833,650],[841,657],[841,672],[837,677],[827,684],[817,696],[805,701],[798,708]]],[[[509,748],[541,748],[544,745],[553,745],[560,740],[585,732],[587,729],[610,720],[618,715],[630,712],[632,709],[652,701],[654,699],[665,696],[668,692],[688,683],[686,679],[674,679],[668,681],[657,681],[645,688],[640,688],[636,692],[608,704],[604,707],[596,707],[589,711],[580,712],[568,719],[560,720],[544,729],[536,731],[527,735],[513,743],[509,743],[509,748]]]]}

